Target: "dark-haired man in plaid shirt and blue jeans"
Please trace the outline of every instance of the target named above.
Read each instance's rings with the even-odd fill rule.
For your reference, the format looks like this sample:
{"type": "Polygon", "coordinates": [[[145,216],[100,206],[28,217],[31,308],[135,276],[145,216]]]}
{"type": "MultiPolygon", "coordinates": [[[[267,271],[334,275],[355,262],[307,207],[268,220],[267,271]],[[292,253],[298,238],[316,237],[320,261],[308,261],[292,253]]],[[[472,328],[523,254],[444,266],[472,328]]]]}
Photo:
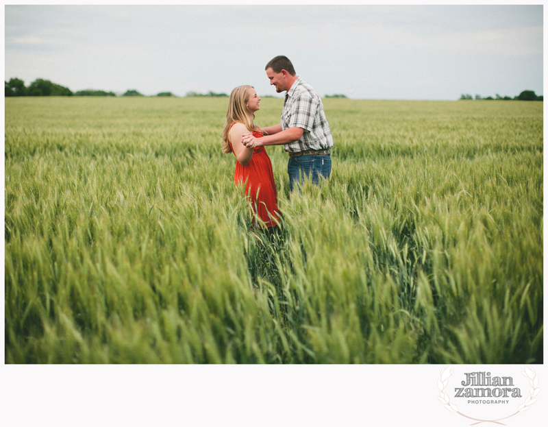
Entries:
{"type": "Polygon", "coordinates": [[[265,136],[242,136],[246,147],[284,145],[289,153],[287,171],[291,191],[303,178],[318,184],[320,176],[331,175],[333,137],[325,119],[323,104],[310,84],[296,75],[293,64],[285,56],[276,56],[265,67],[266,76],[277,93],[286,91],[282,119],[279,125],[263,127],[265,136]]]}

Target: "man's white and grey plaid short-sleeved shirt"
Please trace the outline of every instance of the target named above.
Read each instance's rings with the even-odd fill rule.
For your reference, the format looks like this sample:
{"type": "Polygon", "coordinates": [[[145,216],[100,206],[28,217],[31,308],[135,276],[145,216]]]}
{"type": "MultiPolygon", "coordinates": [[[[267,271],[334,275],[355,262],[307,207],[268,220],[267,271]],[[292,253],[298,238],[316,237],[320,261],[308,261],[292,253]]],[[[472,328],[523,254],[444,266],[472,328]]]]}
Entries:
{"type": "Polygon", "coordinates": [[[290,127],[302,127],[303,136],[299,141],[284,144],[284,150],[292,153],[307,150],[330,149],[333,147],[333,136],[323,104],[310,84],[297,77],[286,93],[282,110],[282,130],[290,127]]]}

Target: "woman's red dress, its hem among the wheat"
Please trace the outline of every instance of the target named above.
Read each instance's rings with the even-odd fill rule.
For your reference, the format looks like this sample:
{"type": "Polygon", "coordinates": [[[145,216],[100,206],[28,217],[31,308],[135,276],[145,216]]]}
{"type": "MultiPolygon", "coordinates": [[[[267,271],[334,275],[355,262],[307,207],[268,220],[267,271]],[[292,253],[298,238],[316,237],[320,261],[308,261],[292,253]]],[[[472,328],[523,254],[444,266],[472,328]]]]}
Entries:
{"type": "MultiPolygon", "coordinates": [[[[253,136],[261,138],[262,134],[253,131],[253,136]]],[[[232,144],[230,149],[234,153],[232,144]]],[[[236,156],[236,153],[234,153],[236,156]]],[[[278,194],[272,172],[272,163],[264,147],[253,148],[253,156],[245,166],[236,160],[236,171],[234,171],[234,183],[246,182],[245,194],[251,201],[253,212],[266,224],[266,227],[277,225],[278,220],[278,194]]]]}

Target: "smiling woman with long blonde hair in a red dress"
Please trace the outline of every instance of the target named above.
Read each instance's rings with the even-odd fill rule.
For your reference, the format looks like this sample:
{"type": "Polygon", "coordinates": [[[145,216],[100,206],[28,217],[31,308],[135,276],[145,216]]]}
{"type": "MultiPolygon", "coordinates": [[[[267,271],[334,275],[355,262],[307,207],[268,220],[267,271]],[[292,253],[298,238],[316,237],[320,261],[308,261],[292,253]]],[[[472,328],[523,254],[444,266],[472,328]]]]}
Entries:
{"type": "Polygon", "coordinates": [[[272,164],[264,147],[247,148],[242,136],[263,136],[253,119],[260,109],[260,97],[253,86],[238,86],[230,93],[227,123],[223,129],[223,152],[236,156],[234,182],[245,183],[245,194],[251,201],[254,214],[269,232],[277,229],[278,203],[272,164]]]}

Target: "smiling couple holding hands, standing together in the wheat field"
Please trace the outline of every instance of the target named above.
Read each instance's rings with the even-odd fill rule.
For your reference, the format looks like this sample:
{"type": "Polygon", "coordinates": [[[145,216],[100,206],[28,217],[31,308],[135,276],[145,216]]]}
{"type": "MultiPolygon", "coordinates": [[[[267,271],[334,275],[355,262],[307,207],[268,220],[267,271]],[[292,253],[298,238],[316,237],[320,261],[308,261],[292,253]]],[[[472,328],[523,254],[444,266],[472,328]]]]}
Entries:
{"type": "Polygon", "coordinates": [[[265,67],[277,93],[286,92],[279,124],[259,128],[253,123],[260,97],[253,86],[238,86],[229,97],[223,129],[223,151],[236,156],[234,182],[244,182],[251,206],[268,231],[277,229],[279,214],[272,164],[265,145],[284,145],[289,154],[287,171],[291,191],[303,178],[318,184],[331,174],[333,137],[323,104],[310,84],[301,80],[285,56],[265,67]]]}

